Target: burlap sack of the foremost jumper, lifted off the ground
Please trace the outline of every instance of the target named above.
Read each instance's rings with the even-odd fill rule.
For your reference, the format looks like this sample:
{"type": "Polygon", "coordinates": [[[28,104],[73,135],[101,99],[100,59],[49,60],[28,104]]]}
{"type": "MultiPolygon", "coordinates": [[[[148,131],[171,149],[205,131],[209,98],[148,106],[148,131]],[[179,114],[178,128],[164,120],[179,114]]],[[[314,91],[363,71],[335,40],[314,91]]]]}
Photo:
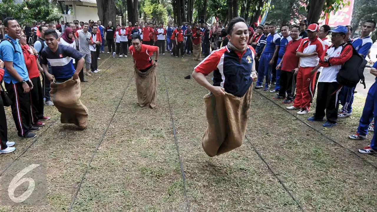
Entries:
{"type": "Polygon", "coordinates": [[[250,112],[253,85],[243,97],[225,93],[204,96],[208,127],[202,136],[204,152],[213,157],[242,145],[250,112]]]}

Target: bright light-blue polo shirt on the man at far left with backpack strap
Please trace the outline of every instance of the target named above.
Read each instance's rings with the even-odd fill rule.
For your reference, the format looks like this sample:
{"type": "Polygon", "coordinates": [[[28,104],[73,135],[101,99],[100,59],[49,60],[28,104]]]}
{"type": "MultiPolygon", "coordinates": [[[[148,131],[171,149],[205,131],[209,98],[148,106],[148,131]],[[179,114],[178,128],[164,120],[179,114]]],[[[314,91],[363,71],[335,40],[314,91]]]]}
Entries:
{"type": "MultiPolygon", "coordinates": [[[[0,59],[3,61],[13,62],[13,67],[16,69],[17,73],[24,79],[29,80],[28,69],[25,65],[25,58],[23,57],[22,49],[18,39],[13,40],[8,34],[5,35],[6,38],[9,38],[11,42],[14,43],[16,52],[11,43],[8,41],[2,41],[0,43],[0,59]]],[[[5,67],[4,67],[5,68],[5,67]]],[[[5,68],[4,69],[4,81],[6,83],[19,83],[5,68]]]]}

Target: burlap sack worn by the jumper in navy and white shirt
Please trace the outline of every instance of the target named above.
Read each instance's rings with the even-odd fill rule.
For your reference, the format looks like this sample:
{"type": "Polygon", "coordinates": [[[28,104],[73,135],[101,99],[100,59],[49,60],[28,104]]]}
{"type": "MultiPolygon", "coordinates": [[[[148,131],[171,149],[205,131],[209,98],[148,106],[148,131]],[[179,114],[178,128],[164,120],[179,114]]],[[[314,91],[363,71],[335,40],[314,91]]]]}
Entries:
{"type": "Polygon", "coordinates": [[[51,100],[61,113],[63,124],[75,124],[80,128],[87,127],[88,109],[81,102],[80,80],[70,79],[63,83],[51,82],[51,100]]]}

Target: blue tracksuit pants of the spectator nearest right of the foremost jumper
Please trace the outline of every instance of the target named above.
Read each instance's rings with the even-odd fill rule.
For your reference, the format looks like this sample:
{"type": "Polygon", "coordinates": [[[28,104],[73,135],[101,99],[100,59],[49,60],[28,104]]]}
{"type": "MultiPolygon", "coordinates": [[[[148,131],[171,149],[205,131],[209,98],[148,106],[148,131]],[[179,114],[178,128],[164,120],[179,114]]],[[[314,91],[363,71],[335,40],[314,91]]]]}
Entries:
{"type": "Polygon", "coordinates": [[[265,88],[270,88],[271,78],[272,78],[272,66],[270,65],[270,60],[274,53],[263,53],[261,59],[259,60],[258,67],[258,79],[256,86],[261,86],[266,77],[265,88]]]}

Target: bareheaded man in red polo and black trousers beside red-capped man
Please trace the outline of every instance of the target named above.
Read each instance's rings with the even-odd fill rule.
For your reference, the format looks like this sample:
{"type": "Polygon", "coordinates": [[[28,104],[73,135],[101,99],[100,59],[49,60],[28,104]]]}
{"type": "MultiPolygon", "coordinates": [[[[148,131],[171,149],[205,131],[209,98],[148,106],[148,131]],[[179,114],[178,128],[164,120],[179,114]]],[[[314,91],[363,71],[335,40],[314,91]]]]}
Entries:
{"type": "Polygon", "coordinates": [[[285,53],[277,65],[277,69],[281,68],[280,72],[280,90],[279,96],[285,97],[285,93],[287,92],[287,98],[282,102],[284,104],[291,103],[292,97],[294,92],[294,81],[293,81],[293,74],[299,68],[299,58],[296,57],[297,49],[302,41],[302,38],[299,37],[300,34],[300,27],[297,25],[292,26],[291,29],[291,38],[292,40],[289,41],[287,46],[285,47],[285,53]],[[284,63],[283,63],[284,61],[284,63]]]}

